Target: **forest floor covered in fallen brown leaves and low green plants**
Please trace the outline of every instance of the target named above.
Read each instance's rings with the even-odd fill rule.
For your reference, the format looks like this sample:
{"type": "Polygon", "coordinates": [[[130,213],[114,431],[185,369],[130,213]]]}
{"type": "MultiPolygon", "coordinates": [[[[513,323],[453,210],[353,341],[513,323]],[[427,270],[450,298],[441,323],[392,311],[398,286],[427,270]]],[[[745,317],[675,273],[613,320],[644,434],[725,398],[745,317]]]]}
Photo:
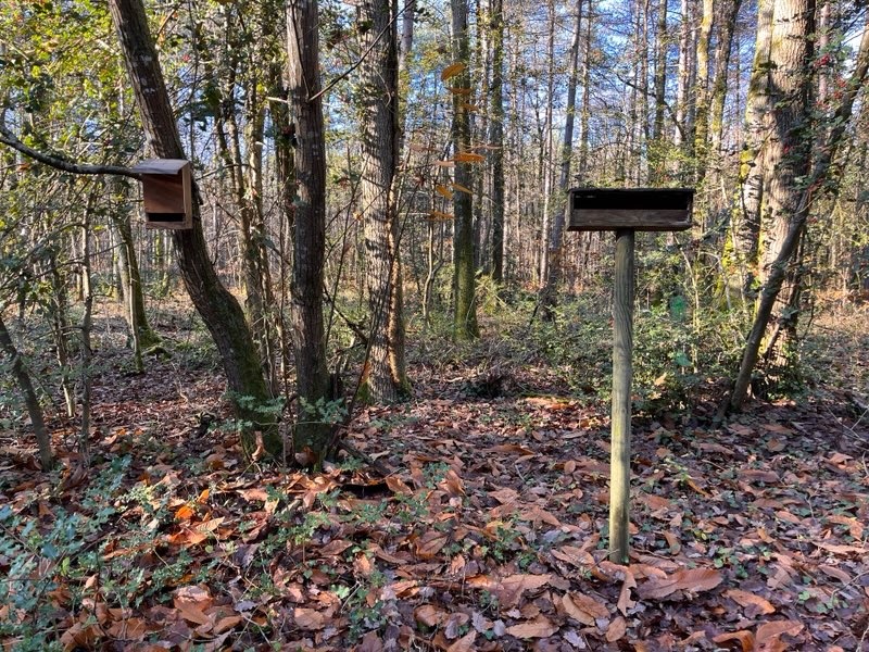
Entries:
{"type": "Polygon", "coordinates": [[[816,329],[830,381],[798,400],[716,425],[713,387],[634,419],[627,566],[605,551],[605,398],[503,336],[415,344],[413,399],[358,410],[348,440],[381,477],[245,462],[185,318],[138,376],[105,326],[90,465],[75,424],[52,474],[0,429],[0,644],[869,650],[868,316],[816,329]]]}

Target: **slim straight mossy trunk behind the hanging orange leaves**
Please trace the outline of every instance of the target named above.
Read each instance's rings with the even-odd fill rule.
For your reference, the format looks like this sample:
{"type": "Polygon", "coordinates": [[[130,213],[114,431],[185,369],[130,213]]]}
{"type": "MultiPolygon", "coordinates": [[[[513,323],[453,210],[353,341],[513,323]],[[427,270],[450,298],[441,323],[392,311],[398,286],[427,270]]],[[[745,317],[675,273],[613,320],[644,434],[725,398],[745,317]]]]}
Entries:
{"type": "Polygon", "coordinates": [[[467,0],[450,0],[453,12],[453,62],[463,70],[453,77],[453,147],[456,151],[453,211],[455,215],[453,236],[453,293],[455,314],[454,331],[457,339],[479,337],[477,325],[477,299],[474,265],[474,205],[470,188],[474,186],[470,152],[470,74],[468,71],[470,35],[468,33],[467,0]]]}

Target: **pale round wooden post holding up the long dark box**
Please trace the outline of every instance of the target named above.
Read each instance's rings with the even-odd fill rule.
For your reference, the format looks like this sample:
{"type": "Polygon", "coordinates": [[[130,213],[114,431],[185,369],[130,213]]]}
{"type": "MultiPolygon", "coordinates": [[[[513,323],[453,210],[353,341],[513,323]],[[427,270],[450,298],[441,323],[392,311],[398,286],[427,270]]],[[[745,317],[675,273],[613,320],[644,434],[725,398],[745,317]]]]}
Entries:
{"type": "Polygon", "coordinates": [[[633,366],[634,231],[616,231],[613,301],[613,412],[609,438],[609,561],[628,561],[631,501],[631,379],[633,366]]]}

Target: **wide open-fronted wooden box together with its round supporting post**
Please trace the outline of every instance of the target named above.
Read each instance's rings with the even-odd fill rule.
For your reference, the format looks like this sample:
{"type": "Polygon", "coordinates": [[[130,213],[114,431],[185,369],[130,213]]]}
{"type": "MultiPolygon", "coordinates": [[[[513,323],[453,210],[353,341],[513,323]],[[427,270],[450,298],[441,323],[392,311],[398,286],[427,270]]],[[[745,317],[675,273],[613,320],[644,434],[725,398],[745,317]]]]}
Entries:
{"type": "Polygon", "coordinates": [[[616,231],[613,298],[613,406],[609,452],[609,560],[630,550],[631,380],[633,377],[634,233],[691,227],[690,188],[575,188],[567,230],[616,231]]]}

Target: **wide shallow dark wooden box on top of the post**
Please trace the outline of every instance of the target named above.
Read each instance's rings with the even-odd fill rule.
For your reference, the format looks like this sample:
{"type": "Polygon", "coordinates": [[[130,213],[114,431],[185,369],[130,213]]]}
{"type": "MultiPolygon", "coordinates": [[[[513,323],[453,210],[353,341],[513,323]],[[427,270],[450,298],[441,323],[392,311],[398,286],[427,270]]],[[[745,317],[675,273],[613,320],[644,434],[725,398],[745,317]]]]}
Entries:
{"type": "Polygon", "coordinates": [[[567,230],[691,228],[693,188],[574,188],[567,230]]]}

